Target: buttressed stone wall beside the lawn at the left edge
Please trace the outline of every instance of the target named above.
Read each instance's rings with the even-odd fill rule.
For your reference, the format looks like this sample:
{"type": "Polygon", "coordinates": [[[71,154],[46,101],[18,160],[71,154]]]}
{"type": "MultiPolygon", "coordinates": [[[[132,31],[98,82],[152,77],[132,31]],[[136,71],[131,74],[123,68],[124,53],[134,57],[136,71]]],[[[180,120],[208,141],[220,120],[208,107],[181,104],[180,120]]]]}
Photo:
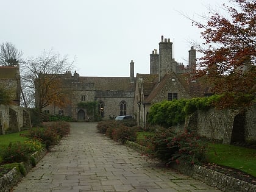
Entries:
{"type": "Polygon", "coordinates": [[[13,105],[0,105],[0,135],[18,132],[31,127],[30,115],[26,108],[13,105]]]}

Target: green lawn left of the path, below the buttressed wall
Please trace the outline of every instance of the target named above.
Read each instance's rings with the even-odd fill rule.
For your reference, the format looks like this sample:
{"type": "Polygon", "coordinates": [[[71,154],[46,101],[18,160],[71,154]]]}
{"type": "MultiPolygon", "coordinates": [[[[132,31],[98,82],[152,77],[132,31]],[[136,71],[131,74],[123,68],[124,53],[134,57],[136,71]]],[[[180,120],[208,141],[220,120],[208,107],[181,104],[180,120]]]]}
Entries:
{"type": "MultiPolygon", "coordinates": [[[[27,130],[17,132],[17,133],[10,133],[6,135],[0,135],[0,151],[3,148],[7,148],[9,146],[9,143],[15,143],[16,141],[20,141],[23,143],[24,141],[28,140],[28,138],[21,136],[20,134],[27,133],[27,130]]],[[[2,158],[0,156],[0,162],[2,161],[2,158]]]]}

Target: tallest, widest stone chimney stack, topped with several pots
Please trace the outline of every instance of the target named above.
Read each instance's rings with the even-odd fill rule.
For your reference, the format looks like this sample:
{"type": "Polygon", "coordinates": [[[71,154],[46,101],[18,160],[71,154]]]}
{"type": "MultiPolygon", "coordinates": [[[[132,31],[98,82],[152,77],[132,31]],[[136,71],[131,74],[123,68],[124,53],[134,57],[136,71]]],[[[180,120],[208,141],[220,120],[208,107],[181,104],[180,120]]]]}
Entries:
{"type": "Polygon", "coordinates": [[[165,38],[159,43],[159,81],[165,76],[166,73],[175,71],[175,67],[172,66],[172,42],[168,38],[165,38]]]}

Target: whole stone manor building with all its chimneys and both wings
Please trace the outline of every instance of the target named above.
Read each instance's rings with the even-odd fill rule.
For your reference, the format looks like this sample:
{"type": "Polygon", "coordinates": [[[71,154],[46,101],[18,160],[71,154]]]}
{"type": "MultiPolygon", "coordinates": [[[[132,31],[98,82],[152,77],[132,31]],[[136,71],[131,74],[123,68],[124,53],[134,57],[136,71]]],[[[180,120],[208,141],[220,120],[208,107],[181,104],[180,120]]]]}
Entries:
{"type": "Polygon", "coordinates": [[[102,119],[118,115],[133,115],[138,124],[145,126],[149,108],[154,102],[204,96],[207,89],[191,81],[188,73],[196,69],[196,50],[191,47],[188,66],[172,58],[172,42],[159,43],[159,54],[154,49],[150,55],[150,74],[134,77],[134,62],[130,62],[130,77],[80,77],[67,71],[60,74],[70,92],[71,104],[66,108],[48,106],[44,112],[72,116],[77,121],[91,118],[79,102],[98,101],[98,113],[102,119]]]}

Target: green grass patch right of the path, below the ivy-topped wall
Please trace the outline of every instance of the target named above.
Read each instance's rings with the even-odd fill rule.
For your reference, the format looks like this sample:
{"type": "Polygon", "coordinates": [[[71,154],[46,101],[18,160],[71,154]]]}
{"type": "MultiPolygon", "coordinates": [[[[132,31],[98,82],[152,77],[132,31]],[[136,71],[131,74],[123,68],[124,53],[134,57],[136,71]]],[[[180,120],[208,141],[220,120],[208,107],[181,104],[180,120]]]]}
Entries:
{"type": "Polygon", "coordinates": [[[239,169],[256,177],[256,149],[209,143],[207,159],[216,165],[239,169]]]}

